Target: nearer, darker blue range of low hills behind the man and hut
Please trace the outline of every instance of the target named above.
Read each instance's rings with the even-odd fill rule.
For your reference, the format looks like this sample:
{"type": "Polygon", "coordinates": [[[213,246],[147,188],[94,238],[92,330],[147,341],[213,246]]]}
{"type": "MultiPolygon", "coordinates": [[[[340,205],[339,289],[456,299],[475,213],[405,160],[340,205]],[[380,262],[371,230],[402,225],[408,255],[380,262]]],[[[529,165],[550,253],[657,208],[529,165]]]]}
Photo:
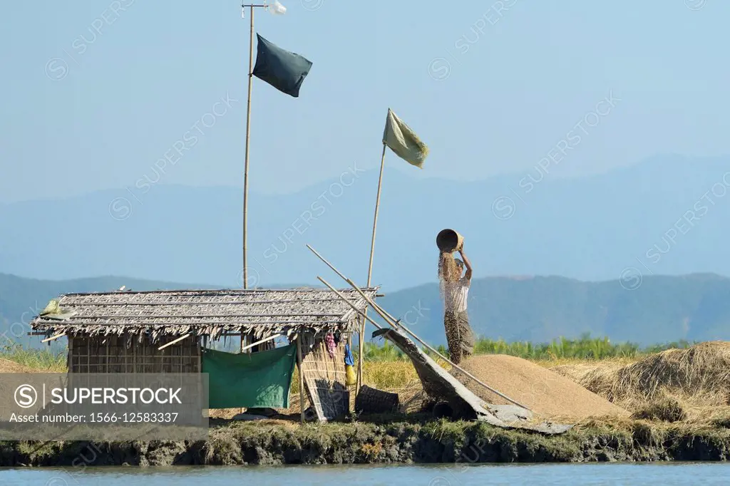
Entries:
{"type": "MultiPolygon", "coordinates": [[[[334,277],[333,284],[342,282],[334,277]]],[[[0,334],[23,344],[28,322],[61,293],[120,288],[206,288],[127,277],[65,281],[0,274],[0,334]]],[[[436,284],[388,292],[379,303],[432,344],[443,344],[442,304],[436,284]]],[[[559,336],[609,336],[639,344],[687,339],[730,340],[730,279],[715,274],[580,282],[564,277],[488,277],[469,291],[469,316],[477,334],[507,341],[548,342],[559,336]]],[[[372,329],[370,329],[372,331],[372,329]]],[[[0,343],[0,346],[5,341],[0,343]]]]}

